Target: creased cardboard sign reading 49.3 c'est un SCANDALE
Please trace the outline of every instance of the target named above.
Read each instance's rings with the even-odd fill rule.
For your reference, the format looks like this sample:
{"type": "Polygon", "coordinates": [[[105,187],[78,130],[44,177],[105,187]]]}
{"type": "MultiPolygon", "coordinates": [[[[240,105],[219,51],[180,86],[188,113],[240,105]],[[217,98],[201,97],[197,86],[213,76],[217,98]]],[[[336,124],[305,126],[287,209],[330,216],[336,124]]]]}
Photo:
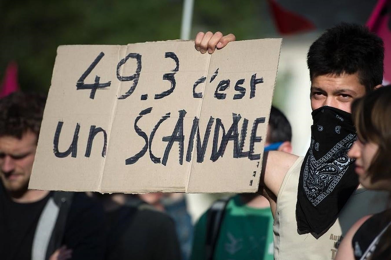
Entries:
{"type": "Polygon", "coordinates": [[[29,188],[255,192],[280,47],[59,46],[29,188]]]}

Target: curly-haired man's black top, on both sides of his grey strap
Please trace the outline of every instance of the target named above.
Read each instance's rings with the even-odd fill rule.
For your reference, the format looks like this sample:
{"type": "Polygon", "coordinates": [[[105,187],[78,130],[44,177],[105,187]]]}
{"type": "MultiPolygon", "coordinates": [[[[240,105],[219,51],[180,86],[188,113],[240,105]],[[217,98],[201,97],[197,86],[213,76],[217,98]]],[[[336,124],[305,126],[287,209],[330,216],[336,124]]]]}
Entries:
{"type": "MultiPolygon", "coordinates": [[[[4,260],[30,260],[34,233],[53,192],[34,203],[16,203],[0,181],[0,252],[4,260]]],[[[99,203],[75,192],[66,218],[63,243],[73,250],[72,260],[103,259],[104,213],[99,203]]]]}

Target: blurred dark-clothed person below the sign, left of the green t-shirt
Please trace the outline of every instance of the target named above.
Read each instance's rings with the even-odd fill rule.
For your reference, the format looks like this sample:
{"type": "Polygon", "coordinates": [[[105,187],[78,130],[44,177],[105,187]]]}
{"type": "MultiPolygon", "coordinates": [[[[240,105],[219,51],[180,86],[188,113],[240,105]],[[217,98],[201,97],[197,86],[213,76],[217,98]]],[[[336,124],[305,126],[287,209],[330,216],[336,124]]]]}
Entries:
{"type": "Polygon", "coordinates": [[[105,260],[180,260],[174,221],[137,195],[99,194],[106,212],[105,260]]]}

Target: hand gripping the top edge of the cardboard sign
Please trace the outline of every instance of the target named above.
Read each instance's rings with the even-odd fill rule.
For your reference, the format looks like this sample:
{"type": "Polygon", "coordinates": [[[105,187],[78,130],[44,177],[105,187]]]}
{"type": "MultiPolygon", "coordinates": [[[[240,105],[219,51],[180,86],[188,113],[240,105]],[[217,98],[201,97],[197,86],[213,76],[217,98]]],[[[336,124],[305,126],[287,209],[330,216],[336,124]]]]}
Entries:
{"type": "Polygon", "coordinates": [[[221,32],[199,32],[195,36],[195,49],[201,53],[212,54],[215,49],[221,49],[226,46],[230,41],[235,41],[236,37],[233,34],[227,34],[223,36],[221,32]]]}

